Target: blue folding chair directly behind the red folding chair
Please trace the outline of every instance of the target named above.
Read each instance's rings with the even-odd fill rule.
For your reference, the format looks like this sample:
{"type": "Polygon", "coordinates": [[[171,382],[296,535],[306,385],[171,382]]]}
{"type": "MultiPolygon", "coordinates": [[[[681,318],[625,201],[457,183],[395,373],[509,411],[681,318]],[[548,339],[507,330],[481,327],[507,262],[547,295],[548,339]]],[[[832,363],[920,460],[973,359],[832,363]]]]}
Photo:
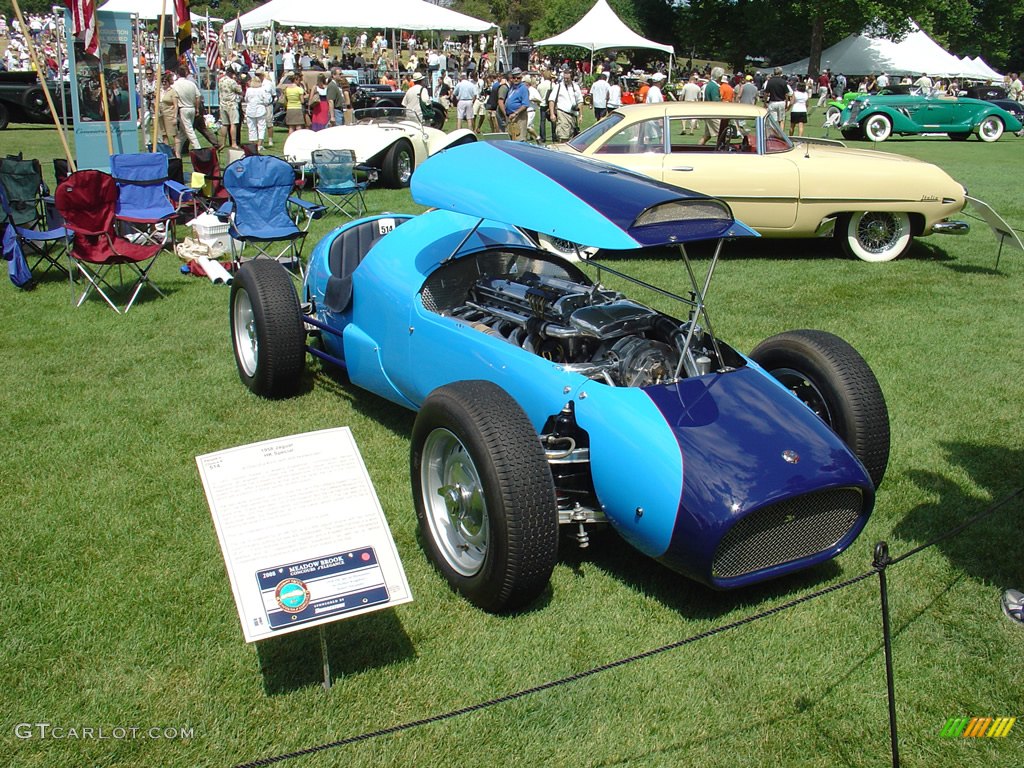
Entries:
{"type": "Polygon", "coordinates": [[[170,241],[173,250],[174,221],[181,207],[193,202],[195,191],[168,177],[167,156],[112,155],[111,175],[118,184],[115,220],[130,224],[139,233],[135,240],[154,245],[170,241]]]}

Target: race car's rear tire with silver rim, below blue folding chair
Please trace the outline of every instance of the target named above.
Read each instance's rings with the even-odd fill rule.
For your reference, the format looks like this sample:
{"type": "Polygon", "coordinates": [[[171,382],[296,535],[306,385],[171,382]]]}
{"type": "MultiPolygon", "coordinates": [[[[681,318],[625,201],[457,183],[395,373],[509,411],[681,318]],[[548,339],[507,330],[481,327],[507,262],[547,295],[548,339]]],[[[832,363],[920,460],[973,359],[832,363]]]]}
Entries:
{"type": "Polygon", "coordinates": [[[285,267],[270,259],[244,264],[231,282],[230,319],[242,383],[261,397],[295,394],[306,364],[306,335],[285,267]]]}

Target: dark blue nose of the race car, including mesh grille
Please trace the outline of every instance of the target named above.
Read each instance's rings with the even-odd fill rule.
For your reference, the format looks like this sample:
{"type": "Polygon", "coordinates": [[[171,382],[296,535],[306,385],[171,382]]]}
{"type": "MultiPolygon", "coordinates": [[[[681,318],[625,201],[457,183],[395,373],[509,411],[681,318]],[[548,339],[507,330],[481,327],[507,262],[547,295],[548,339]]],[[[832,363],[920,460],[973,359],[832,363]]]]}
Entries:
{"type": "Polygon", "coordinates": [[[664,564],[712,587],[741,587],[824,562],[864,527],[874,487],[863,465],[763,372],[644,391],[683,458],[664,564]]]}

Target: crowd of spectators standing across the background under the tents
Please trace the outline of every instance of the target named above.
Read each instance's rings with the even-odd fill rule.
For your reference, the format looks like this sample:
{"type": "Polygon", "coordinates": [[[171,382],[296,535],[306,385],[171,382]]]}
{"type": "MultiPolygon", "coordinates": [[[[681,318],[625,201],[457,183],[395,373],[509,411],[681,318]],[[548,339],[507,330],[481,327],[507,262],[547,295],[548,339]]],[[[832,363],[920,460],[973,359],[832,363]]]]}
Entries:
{"type": "MultiPolygon", "coordinates": [[[[63,14],[31,14],[26,26],[20,29],[16,19],[8,25],[0,16],[0,38],[8,41],[0,68],[31,69],[31,44],[49,77],[67,78],[63,14]]],[[[455,109],[459,128],[477,133],[508,131],[514,138],[542,142],[571,138],[582,127],[585,108],[593,109],[594,118],[600,119],[624,103],[666,99],[764,103],[779,125],[803,135],[813,110],[842,100],[851,90],[873,93],[896,84],[896,78],[886,73],[848,78],[827,69],[817,77],[799,77],[783,76],[778,69],[772,75],[727,73],[710,65],[696,69],[690,61],[674,72],[657,61],[637,68],[610,58],[556,62],[537,49],[522,71],[500,59],[500,34],[490,39],[486,35],[447,36],[440,43],[425,44],[412,33],[404,34],[399,43],[389,41],[383,32],[332,38],[309,30],[271,33],[265,29],[246,31],[234,42],[209,25],[196,24],[194,37],[194,51],[215,55],[208,72],[201,74],[188,66],[195,58],[164,61],[161,67],[156,53],[160,44],[153,29],[139,30],[133,60],[139,125],[148,131],[151,121],[156,120],[159,139],[179,156],[185,146],[198,143],[197,134],[218,148],[239,147],[243,127],[248,140],[259,148],[272,146],[275,110],[284,111],[289,132],[341,124],[353,105],[356,83],[344,75],[352,71],[358,73],[359,82],[383,83],[403,91],[402,105],[421,118],[438,101],[455,109]],[[207,115],[203,91],[217,93],[213,115],[207,115]]],[[[900,85],[929,95],[956,95],[962,84],[922,74],[902,78],[900,85]]],[[[1024,86],[1016,73],[1002,85],[1011,98],[1024,99],[1024,86]]]]}

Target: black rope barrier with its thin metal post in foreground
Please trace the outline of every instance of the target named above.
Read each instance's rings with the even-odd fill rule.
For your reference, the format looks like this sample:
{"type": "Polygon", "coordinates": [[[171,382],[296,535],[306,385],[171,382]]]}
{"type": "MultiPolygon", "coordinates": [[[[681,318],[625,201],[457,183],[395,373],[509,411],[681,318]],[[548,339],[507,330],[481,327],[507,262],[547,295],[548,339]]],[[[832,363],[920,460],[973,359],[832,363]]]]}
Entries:
{"type": "Polygon", "coordinates": [[[710,637],[714,637],[715,635],[720,635],[723,632],[728,632],[729,630],[738,629],[739,627],[745,627],[749,624],[759,622],[763,618],[768,618],[769,616],[773,616],[776,613],[781,613],[782,611],[790,610],[791,608],[795,608],[798,605],[810,602],[811,600],[816,600],[819,597],[824,597],[825,595],[831,594],[833,592],[838,592],[840,590],[846,589],[847,587],[852,587],[853,585],[863,582],[865,579],[869,579],[870,577],[873,577],[876,574],[879,574],[881,584],[883,585],[882,613],[883,613],[883,624],[884,624],[884,635],[887,643],[887,681],[890,691],[890,733],[891,733],[892,750],[893,750],[893,765],[898,766],[899,758],[898,758],[898,753],[896,751],[895,700],[892,695],[893,681],[892,681],[891,648],[889,648],[888,646],[890,638],[888,630],[889,608],[888,608],[888,600],[886,599],[886,590],[884,586],[885,570],[886,568],[895,565],[896,563],[906,560],[908,557],[911,557],[912,555],[919,554],[920,552],[923,552],[926,549],[934,547],[935,545],[963,532],[964,530],[976,524],[977,522],[983,520],[989,515],[1002,509],[1011,501],[1019,499],[1022,495],[1024,495],[1024,487],[1017,488],[1009,496],[1005,497],[1004,499],[999,500],[995,504],[979,512],[973,517],[965,520],[955,527],[950,528],[944,534],[940,534],[939,536],[929,540],[925,544],[922,544],[918,547],[908,550],[907,552],[904,552],[902,555],[898,557],[889,557],[886,545],[884,543],[881,543],[879,547],[876,548],[874,561],[872,563],[872,567],[870,568],[870,570],[865,570],[863,573],[858,573],[857,575],[847,579],[843,582],[839,582],[837,584],[829,585],[828,587],[824,587],[820,590],[816,590],[806,595],[802,595],[801,597],[794,598],[793,600],[788,600],[784,603],[776,605],[775,607],[768,608],[766,610],[762,610],[757,613],[752,613],[748,616],[743,616],[742,618],[737,618],[734,622],[729,622],[728,624],[712,627],[711,629],[706,630],[705,632],[700,632],[696,635],[691,635],[690,637],[684,638],[682,640],[677,640],[667,645],[662,645],[660,647],[657,648],[652,648],[650,650],[646,650],[641,653],[636,653],[632,656],[618,658],[614,662],[609,662],[607,664],[600,665],[599,667],[594,667],[589,670],[585,670],[583,672],[578,672],[572,675],[568,675],[567,677],[559,678],[558,680],[551,680],[549,682],[541,683],[540,685],[535,685],[529,688],[523,688],[513,693],[507,693],[503,696],[490,698],[486,701],[480,701],[475,705],[470,705],[469,707],[462,707],[458,710],[452,710],[450,712],[441,713],[438,715],[432,715],[430,717],[422,718],[420,720],[412,720],[406,723],[401,723],[399,725],[393,725],[387,728],[368,731],[366,733],[360,733],[356,736],[348,736],[346,738],[340,738],[335,741],[328,741],[322,744],[317,744],[315,746],[308,746],[302,750],[296,750],[294,752],[274,755],[272,757],[260,758],[258,760],[253,760],[248,763],[240,763],[236,765],[234,768],[260,768],[261,766],[273,765],[275,763],[283,763],[286,760],[293,760],[295,758],[305,757],[306,755],[314,755],[316,753],[325,752],[327,750],[334,750],[339,746],[346,746],[348,744],[354,744],[360,741],[368,741],[373,738],[379,738],[381,736],[387,736],[393,733],[400,733],[402,731],[412,730],[413,728],[419,728],[421,726],[431,725],[433,723],[440,723],[445,720],[451,720],[453,718],[461,717],[462,715],[468,715],[473,712],[480,712],[482,710],[490,709],[499,705],[508,703],[509,701],[515,701],[520,698],[525,698],[526,696],[531,696],[536,693],[541,693],[546,690],[551,690],[552,688],[558,688],[563,685],[568,685],[569,683],[574,683],[580,680],[585,680],[589,677],[593,677],[594,675],[598,675],[602,672],[615,670],[626,665],[635,664],[636,662],[640,662],[645,658],[650,658],[651,656],[656,656],[662,653],[667,653],[670,650],[676,650],[677,648],[681,648],[684,645],[690,645],[699,640],[706,640],[710,637]]]}

